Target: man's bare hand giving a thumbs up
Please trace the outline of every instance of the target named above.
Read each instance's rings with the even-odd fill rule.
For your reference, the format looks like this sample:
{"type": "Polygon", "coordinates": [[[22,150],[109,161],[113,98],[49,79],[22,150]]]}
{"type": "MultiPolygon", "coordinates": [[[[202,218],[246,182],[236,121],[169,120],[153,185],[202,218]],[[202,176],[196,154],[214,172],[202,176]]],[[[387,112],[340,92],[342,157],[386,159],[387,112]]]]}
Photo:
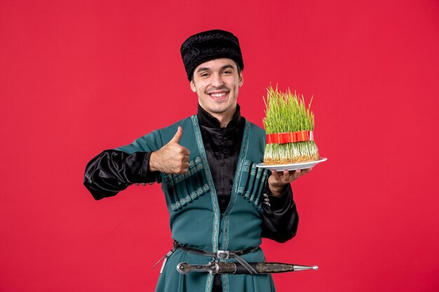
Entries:
{"type": "Polygon", "coordinates": [[[189,168],[189,149],[180,145],[183,135],[182,127],[178,127],[173,139],[158,151],[151,153],[148,170],[166,174],[184,174],[189,168]]]}

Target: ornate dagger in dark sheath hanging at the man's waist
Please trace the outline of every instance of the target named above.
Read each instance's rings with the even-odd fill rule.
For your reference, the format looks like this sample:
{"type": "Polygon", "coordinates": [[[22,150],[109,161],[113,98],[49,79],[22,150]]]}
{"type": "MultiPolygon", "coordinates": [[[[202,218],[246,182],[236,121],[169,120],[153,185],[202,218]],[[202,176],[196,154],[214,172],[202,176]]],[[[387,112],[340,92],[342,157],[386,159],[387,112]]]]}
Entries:
{"type": "MultiPolygon", "coordinates": [[[[248,263],[258,274],[271,274],[279,272],[296,272],[302,270],[318,270],[316,265],[294,265],[290,263],[248,263]]],[[[179,263],[177,271],[181,274],[189,272],[209,272],[210,274],[250,274],[241,263],[222,263],[211,261],[207,265],[189,265],[179,263]]]]}

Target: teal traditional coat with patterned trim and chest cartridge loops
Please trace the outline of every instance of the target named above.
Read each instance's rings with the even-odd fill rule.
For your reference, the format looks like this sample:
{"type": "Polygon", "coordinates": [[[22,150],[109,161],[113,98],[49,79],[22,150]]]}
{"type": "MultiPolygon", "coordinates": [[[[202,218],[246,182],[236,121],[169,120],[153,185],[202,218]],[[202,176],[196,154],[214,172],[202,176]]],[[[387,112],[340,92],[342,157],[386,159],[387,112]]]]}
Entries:
{"type": "MultiPolygon", "coordinates": [[[[236,251],[261,244],[261,214],[264,186],[268,172],[257,168],[264,157],[265,132],[246,121],[241,153],[234,175],[229,207],[220,214],[217,193],[205,155],[196,116],[191,116],[118,148],[126,153],[156,151],[173,138],[177,127],[183,128],[180,144],[191,151],[186,174],[161,174],[161,183],[170,214],[173,239],[180,244],[206,251],[236,251]]],[[[262,249],[242,256],[248,262],[264,261],[262,249]]],[[[209,292],[213,276],[207,272],[180,274],[177,264],[205,265],[212,258],[177,249],[168,258],[158,279],[156,291],[209,292]]],[[[236,261],[233,258],[224,261],[236,261]]],[[[270,274],[224,274],[224,292],[275,291],[270,274]]]]}

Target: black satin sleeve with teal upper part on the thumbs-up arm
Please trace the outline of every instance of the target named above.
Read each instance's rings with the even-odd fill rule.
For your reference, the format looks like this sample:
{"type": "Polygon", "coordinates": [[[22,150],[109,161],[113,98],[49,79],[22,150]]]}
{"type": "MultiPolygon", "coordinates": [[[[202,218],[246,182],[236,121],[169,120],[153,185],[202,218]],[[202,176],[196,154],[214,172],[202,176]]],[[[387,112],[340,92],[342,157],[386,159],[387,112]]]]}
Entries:
{"type": "Polygon", "coordinates": [[[84,186],[100,200],[117,195],[133,183],[160,183],[159,172],[148,172],[151,152],[159,148],[160,133],[154,131],[127,146],[102,151],[88,162],[84,186]]]}

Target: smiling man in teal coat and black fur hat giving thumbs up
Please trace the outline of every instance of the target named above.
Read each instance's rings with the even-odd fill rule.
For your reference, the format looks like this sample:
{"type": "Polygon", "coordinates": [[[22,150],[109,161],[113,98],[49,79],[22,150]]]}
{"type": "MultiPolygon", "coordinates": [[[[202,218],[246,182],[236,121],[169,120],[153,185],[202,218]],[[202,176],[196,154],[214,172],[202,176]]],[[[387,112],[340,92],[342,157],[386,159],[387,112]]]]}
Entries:
{"type": "Polygon", "coordinates": [[[86,167],[96,200],[133,183],[161,183],[175,240],[156,291],[274,291],[269,274],[180,274],[182,262],[262,262],[262,237],[294,237],[298,216],[290,182],[309,170],[272,172],[262,162],[265,133],[240,114],[243,58],[236,36],[222,30],[190,36],[181,47],[198,113],[103,151],[86,167]],[[231,254],[231,258],[229,255],[231,254]]]}

